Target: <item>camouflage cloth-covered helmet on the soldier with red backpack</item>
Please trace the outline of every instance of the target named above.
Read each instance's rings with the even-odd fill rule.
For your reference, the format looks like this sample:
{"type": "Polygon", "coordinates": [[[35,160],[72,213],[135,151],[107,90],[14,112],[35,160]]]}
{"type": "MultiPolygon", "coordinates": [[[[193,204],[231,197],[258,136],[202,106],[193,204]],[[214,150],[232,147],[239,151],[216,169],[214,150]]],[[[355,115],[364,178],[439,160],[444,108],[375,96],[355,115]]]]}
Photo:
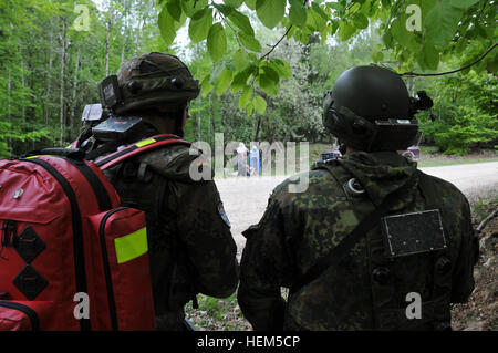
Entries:
{"type": "Polygon", "coordinates": [[[116,114],[160,106],[177,111],[199,95],[199,81],[195,80],[177,56],[149,52],[135,56],[121,65],[117,81],[122,102],[116,114]]]}

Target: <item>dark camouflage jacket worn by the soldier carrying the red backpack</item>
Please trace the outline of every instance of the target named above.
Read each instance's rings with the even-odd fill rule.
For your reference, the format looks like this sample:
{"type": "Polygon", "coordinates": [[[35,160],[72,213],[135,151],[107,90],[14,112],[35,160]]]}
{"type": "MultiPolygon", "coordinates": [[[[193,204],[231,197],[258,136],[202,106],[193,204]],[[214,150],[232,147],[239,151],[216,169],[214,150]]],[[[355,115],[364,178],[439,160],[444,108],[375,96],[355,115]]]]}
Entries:
{"type": "MultiPolygon", "coordinates": [[[[157,134],[142,129],[131,142],[157,134]]],[[[172,145],[105,170],[122,205],[146,212],[159,330],[181,330],[184,305],[195,294],[225,298],[238,284],[237,247],[215,181],[189,176],[197,157],[186,145],[172,145]]]]}

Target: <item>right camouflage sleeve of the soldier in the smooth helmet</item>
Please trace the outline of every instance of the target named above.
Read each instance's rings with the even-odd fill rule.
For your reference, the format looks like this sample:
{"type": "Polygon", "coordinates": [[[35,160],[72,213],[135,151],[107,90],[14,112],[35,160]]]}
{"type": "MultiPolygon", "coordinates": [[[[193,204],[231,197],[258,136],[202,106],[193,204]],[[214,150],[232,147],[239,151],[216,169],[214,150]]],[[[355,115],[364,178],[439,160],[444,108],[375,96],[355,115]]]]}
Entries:
{"type": "Polygon", "coordinates": [[[467,302],[474,290],[474,264],[479,255],[479,245],[474,231],[470,207],[467,199],[463,205],[461,218],[459,221],[460,249],[454,271],[452,273],[452,302],[467,302]]]}

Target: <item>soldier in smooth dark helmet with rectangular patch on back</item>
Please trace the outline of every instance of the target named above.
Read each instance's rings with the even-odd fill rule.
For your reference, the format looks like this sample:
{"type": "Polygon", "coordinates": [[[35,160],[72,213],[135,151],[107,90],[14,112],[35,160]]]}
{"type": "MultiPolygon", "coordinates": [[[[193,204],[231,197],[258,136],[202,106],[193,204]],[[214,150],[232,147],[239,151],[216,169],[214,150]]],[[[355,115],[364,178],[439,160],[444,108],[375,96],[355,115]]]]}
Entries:
{"type": "Polygon", "coordinates": [[[305,193],[291,194],[295,181],[283,181],[260,222],[243,232],[238,300],[255,330],[450,329],[450,303],[474,289],[478,247],[465,196],[396,153],[417,133],[415,113],[432,106],[418,94],[409,98],[397,74],[376,66],[350,69],[328,92],[323,122],[346,146],[344,159],[301,174],[305,193]],[[386,199],[387,215],[406,218],[376,218],[341,248],[386,199]],[[438,211],[423,212],[430,209],[438,211]],[[443,230],[428,215],[440,217],[443,230]],[[386,241],[386,219],[402,219],[402,241],[386,241]],[[291,289],[287,301],[282,287],[291,289]],[[408,319],[409,293],[419,294],[419,318],[408,319]]]}

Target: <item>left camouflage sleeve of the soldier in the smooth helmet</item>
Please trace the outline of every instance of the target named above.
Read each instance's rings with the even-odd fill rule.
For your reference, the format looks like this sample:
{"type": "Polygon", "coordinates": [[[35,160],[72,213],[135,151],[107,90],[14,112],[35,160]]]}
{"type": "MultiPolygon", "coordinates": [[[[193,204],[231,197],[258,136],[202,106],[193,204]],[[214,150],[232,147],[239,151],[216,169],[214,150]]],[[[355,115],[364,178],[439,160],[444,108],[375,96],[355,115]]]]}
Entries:
{"type": "Polygon", "coordinates": [[[283,330],[286,302],[281,287],[289,285],[289,255],[278,201],[270,199],[260,222],[243,232],[247,238],[240,264],[238,302],[255,330],[283,330]]]}

